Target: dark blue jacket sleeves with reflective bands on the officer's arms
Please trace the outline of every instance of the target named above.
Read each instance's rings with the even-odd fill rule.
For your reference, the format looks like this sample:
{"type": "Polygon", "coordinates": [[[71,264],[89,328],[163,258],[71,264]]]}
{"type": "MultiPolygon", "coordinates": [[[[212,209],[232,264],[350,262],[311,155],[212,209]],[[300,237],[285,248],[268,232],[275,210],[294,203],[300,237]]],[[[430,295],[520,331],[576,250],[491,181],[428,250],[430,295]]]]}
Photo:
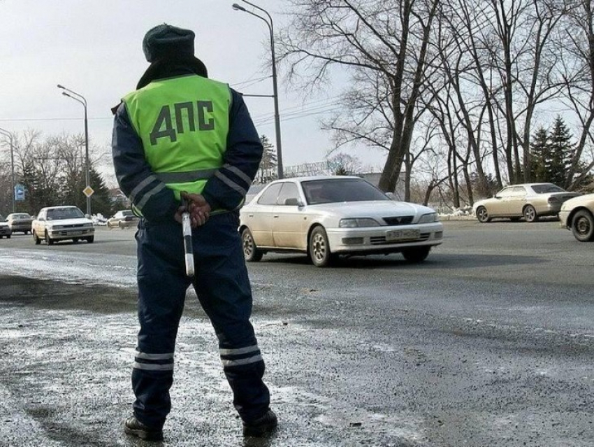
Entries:
{"type": "MultiPolygon", "coordinates": [[[[262,159],[262,143],[240,93],[231,89],[229,134],[224,166],[206,183],[203,196],[212,210],[240,206],[262,159]],[[242,175],[243,174],[243,175],[242,175]],[[249,182],[247,180],[250,180],[249,182]]],[[[143,198],[143,215],[149,221],[173,220],[180,202],[173,190],[154,177],[145,159],[143,143],[131,125],[126,106],[115,112],[112,140],[113,165],[119,187],[134,204],[143,198]]]]}

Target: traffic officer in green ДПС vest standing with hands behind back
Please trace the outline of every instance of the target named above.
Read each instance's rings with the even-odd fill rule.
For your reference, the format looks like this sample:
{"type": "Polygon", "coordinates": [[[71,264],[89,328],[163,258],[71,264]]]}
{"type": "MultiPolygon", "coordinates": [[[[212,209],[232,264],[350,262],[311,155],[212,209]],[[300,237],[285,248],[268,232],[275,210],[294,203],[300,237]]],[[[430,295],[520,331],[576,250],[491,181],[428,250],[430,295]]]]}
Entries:
{"type": "Polygon", "coordinates": [[[246,436],[275,429],[264,362],[249,322],[252,291],[238,234],[238,207],[263,148],[238,92],[208,79],[194,32],[168,24],[143,40],[150,66],[115,109],[113,163],[138,224],[138,346],[133,416],[124,432],[160,440],[171,410],[175,337],[186,290],[219,339],[224,374],[246,436]],[[183,193],[183,194],[182,194],[183,193]],[[189,199],[184,208],[182,196],[189,199]],[[191,211],[196,276],[184,274],[181,212],[191,211]]]}

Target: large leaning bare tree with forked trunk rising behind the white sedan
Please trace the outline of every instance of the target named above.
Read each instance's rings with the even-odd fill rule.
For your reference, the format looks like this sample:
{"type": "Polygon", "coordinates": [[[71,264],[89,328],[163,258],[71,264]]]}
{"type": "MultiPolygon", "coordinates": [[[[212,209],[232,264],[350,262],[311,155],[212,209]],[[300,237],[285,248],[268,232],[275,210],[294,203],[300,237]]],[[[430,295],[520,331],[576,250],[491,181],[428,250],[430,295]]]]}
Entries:
{"type": "Polygon", "coordinates": [[[294,19],[281,32],[289,75],[351,75],[343,112],[327,123],[337,145],[365,141],[388,151],[379,187],[392,191],[409,155],[419,98],[430,77],[430,36],[439,0],[291,0],[294,19]]]}

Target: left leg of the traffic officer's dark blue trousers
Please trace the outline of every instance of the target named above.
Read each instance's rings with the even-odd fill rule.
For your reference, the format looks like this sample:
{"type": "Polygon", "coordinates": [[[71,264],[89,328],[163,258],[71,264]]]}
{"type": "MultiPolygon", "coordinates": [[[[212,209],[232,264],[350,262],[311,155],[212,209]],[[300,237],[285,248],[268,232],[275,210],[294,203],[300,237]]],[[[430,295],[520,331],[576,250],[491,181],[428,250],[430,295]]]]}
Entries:
{"type": "Polygon", "coordinates": [[[181,231],[177,224],[141,224],[136,234],[140,331],[132,370],[133,409],[151,427],[162,426],[171,411],[175,338],[189,285],[181,231]]]}

